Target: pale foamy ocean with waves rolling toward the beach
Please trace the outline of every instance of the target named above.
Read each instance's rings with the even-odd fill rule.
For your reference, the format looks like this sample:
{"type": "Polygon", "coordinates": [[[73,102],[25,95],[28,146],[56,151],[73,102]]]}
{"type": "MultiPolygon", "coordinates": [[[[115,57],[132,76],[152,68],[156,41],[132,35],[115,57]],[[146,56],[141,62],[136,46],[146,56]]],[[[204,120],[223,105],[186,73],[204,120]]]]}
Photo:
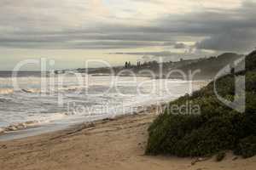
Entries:
{"type": "Polygon", "coordinates": [[[28,127],[30,131],[55,129],[132,114],[205,84],[79,73],[42,76],[37,71],[22,71],[12,77],[11,71],[0,71],[0,128],[5,133],[27,131],[28,127]]]}

